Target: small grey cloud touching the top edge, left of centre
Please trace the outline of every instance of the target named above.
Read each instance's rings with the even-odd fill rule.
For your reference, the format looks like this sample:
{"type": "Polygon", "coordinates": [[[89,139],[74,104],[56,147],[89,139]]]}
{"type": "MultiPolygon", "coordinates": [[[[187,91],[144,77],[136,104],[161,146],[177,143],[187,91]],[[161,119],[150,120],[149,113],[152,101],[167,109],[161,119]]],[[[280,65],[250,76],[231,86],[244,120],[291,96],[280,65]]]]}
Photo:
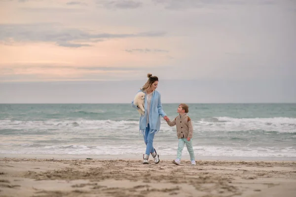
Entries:
{"type": "Polygon", "coordinates": [[[143,5],[142,2],[134,0],[98,0],[97,4],[102,4],[105,8],[108,9],[135,9],[143,5]]]}

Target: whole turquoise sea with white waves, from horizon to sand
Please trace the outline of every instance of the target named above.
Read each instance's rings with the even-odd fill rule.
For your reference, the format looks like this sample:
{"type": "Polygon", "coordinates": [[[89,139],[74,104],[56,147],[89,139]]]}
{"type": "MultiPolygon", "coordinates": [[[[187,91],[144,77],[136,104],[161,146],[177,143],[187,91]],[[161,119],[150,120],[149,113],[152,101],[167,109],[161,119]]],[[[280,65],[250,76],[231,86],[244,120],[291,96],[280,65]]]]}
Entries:
{"type": "MultiPolygon", "coordinates": [[[[188,104],[199,158],[296,160],[296,104],[188,104]]],[[[163,104],[171,119],[178,104],[163,104]]],[[[153,145],[176,156],[176,127],[161,120],[153,145]]],[[[130,104],[0,104],[0,155],[145,154],[130,104]]],[[[186,147],[183,156],[188,158],[186,147]]]]}

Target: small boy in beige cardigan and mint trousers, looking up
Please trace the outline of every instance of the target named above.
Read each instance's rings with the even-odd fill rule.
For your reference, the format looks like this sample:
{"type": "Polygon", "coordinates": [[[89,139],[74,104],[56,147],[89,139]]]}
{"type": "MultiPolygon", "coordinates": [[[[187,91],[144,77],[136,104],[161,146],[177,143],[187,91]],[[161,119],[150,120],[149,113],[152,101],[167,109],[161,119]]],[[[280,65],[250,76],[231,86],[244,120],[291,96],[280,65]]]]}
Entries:
{"type": "Polygon", "coordinates": [[[190,155],[191,165],[196,165],[194,152],[192,148],[192,135],[193,135],[193,126],[191,119],[187,116],[189,112],[188,106],[184,103],[181,103],[178,107],[177,113],[179,116],[176,117],[173,121],[166,120],[169,126],[177,127],[177,136],[179,139],[178,151],[177,151],[177,159],[173,160],[173,163],[176,165],[180,165],[182,150],[184,148],[184,144],[186,144],[187,150],[190,155]]]}

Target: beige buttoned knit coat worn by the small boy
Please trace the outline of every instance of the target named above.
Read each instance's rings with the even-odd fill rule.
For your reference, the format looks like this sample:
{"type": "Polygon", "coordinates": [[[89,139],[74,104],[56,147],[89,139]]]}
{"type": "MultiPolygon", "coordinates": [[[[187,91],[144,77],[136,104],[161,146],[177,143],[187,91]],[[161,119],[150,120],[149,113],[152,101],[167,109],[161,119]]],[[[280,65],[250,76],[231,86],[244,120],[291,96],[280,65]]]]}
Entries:
{"type": "Polygon", "coordinates": [[[191,119],[187,116],[187,114],[183,114],[182,116],[176,117],[173,121],[167,121],[169,126],[177,127],[177,136],[178,139],[181,138],[192,138],[193,137],[193,126],[191,119]]]}

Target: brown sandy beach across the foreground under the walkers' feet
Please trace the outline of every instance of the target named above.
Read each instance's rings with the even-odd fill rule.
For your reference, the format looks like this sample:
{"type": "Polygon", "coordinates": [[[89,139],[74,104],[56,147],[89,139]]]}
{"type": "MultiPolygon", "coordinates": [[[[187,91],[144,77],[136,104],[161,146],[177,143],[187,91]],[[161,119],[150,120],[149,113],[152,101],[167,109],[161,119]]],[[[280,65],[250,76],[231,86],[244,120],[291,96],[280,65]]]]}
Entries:
{"type": "Polygon", "coordinates": [[[294,161],[0,158],[0,197],[296,197],[294,161]]]}

